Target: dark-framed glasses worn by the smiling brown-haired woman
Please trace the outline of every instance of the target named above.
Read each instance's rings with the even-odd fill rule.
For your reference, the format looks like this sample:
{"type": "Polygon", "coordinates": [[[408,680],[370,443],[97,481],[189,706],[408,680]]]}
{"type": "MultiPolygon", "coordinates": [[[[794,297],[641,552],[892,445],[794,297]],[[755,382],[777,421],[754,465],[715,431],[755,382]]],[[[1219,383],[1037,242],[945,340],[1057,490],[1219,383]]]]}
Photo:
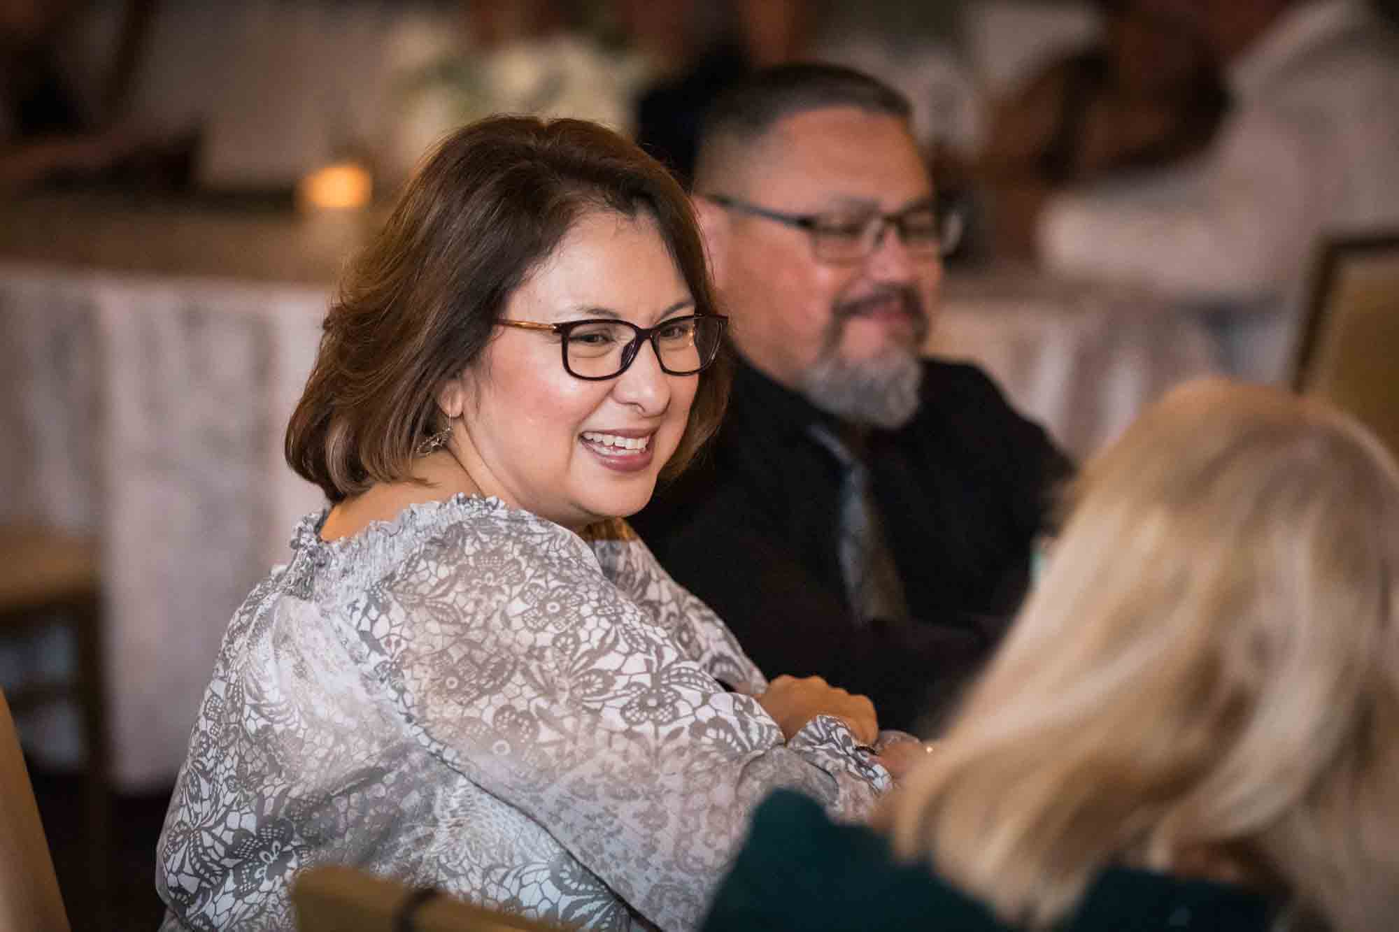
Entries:
{"type": "Polygon", "coordinates": [[[625,320],[569,320],[534,323],[532,320],[497,320],[502,327],[548,330],[558,334],[564,351],[564,369],[590,382],[614,379],[637,358],[641,344],[651,340],[667,375],[694,375],[713,362],[723,341],[729,318],[720,313],[694,313],[670,318],[653,327],[638,327],[625,320]]]}

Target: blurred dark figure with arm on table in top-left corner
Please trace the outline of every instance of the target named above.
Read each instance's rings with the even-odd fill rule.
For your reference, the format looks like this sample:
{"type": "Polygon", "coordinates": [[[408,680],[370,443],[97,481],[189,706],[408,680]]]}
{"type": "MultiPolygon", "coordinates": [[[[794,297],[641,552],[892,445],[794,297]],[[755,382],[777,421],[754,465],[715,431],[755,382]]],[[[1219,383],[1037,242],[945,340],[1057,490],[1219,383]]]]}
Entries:
{"type": "Polygon", "coordinates": [[[0,0],[0,192],[55,182],[186,183],[197,134],[161,137],[118,119],[150,4],[127,4],[111,87],[97,108],[70,85],[59,53],[84,6],[0,0]]]}

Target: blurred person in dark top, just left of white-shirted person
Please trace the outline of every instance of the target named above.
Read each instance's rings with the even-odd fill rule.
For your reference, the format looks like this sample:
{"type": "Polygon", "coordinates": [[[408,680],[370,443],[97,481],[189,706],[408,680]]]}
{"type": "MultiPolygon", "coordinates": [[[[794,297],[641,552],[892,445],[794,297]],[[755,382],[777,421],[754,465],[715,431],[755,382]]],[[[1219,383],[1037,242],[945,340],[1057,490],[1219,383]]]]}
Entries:
{"type": "Polygon", "coordinates": [[[1213,137],[1227,99],[1219,70],[1198,31],[1153,1],[1097,0],[1102,41],[996,106],[977,165],[996,256],[1032,255],[1049,192],[1171,165],[1213,137]]]}

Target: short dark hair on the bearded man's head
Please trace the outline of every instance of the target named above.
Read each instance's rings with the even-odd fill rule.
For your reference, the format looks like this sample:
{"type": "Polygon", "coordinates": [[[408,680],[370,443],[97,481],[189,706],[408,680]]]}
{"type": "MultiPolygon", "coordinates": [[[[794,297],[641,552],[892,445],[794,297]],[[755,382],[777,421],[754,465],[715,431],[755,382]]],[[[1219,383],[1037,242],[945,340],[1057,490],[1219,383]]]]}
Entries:
{"type": "Polygon", "coordinates": [[[909,120],[908,98],[883,81],[839,64],[799,62],[755,71],[715,99],[705,113],[695,179],[712,182],[726,161],[719,150],[753,143],[781,120],[837,106],[909,120]]]}

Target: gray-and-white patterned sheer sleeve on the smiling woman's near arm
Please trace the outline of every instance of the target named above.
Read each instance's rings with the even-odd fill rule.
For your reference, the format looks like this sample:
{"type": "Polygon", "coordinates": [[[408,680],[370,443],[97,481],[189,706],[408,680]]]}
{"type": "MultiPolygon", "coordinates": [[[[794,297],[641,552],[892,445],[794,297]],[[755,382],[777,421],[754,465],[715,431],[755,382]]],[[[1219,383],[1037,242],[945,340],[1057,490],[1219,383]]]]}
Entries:
{"type": "Polygon", "coordinates": [[[772,788],[852,819],[888,784],[835,719],[783,744],[757,701],[687,659],[562,530],[445,542],[364,617],[417,740],[666,929],[698,922],[772,788]]]}

